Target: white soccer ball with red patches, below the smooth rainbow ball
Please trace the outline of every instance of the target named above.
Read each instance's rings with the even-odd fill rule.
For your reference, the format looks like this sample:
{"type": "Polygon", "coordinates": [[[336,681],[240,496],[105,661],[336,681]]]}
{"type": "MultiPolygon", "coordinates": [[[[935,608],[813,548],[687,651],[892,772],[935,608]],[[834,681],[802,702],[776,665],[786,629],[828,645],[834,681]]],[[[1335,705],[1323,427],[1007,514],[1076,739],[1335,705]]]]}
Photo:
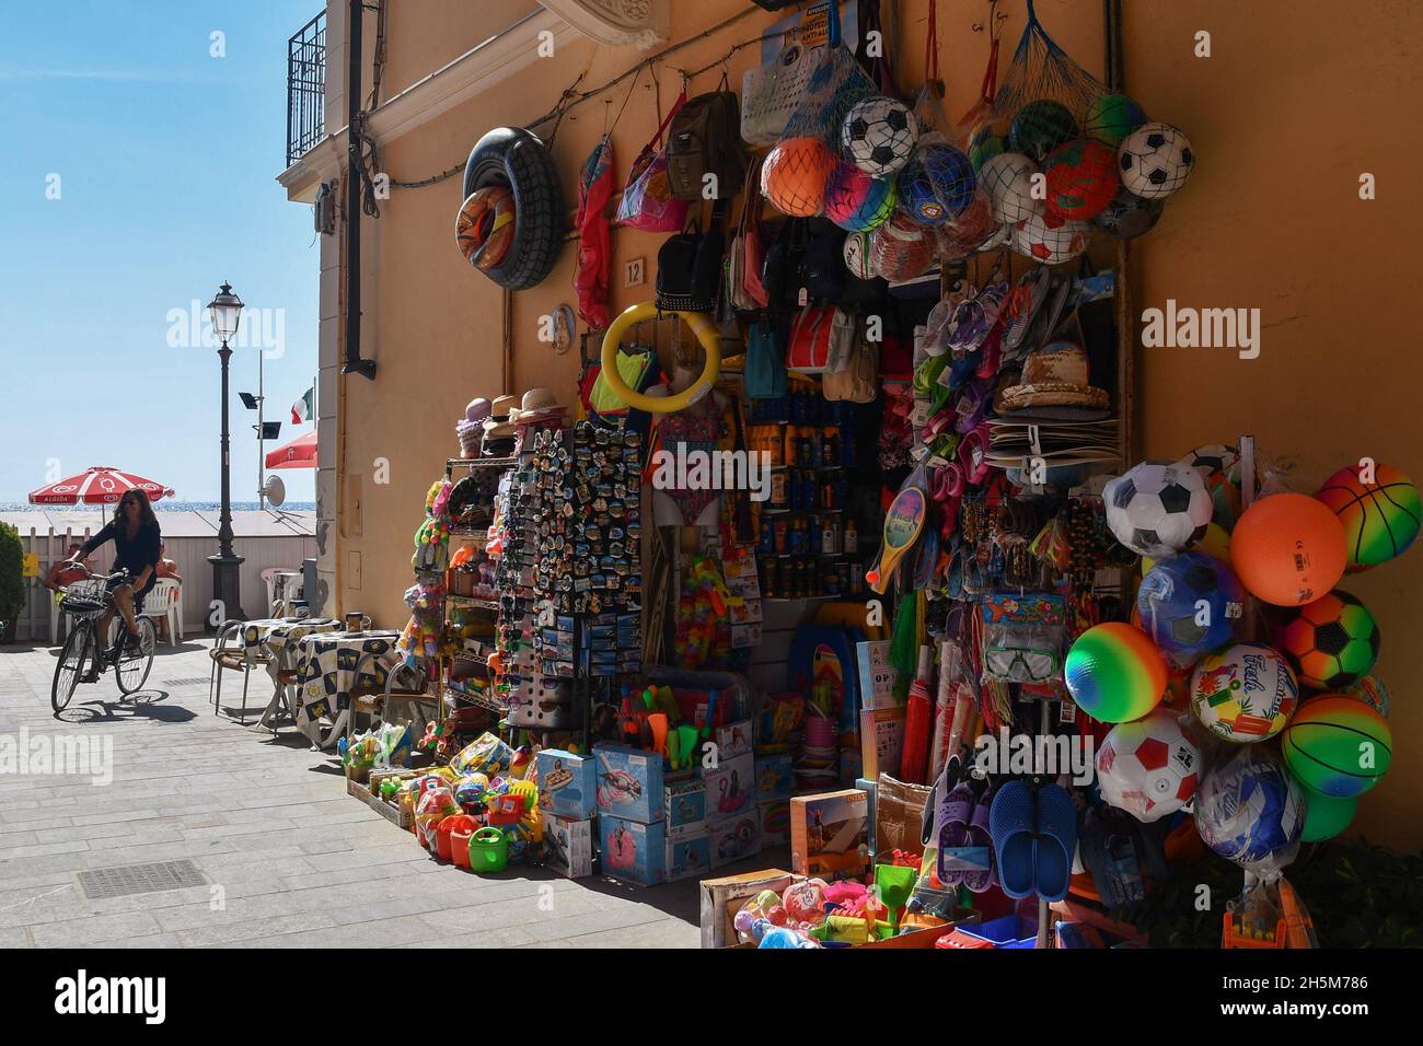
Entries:
{"type": "Polygon", "coordinates": [[[1097,749],[1097,786],[1109,805],[1150,824],[1190,801],[1200,764],[1201,753],[1181,731],[1178,713],[1158,707],[1111,727],[1097,749]]]}

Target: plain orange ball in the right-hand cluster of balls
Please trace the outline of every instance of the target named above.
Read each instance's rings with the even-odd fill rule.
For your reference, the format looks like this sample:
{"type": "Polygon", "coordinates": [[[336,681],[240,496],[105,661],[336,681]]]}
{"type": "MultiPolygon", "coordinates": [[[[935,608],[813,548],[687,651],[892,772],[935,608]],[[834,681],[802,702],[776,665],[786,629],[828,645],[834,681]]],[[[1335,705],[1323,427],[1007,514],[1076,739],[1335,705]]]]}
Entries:
{"type": "Polygon", "coordinates": [[[1231,565],[1252,595],[1301,606],[1343,576],[1343,525],[1306,494],[1272,494],[1241,514],[1231,534],[1231,565]]]}

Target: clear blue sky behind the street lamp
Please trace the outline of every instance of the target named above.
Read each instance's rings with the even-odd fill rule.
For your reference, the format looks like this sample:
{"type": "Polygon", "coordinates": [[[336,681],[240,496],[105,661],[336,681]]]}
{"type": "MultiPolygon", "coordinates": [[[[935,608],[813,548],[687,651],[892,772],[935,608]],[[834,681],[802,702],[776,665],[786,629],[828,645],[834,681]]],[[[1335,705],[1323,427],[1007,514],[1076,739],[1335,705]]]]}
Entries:
{"type": "MultiPolygon", "coordinates": [[[[226,279],[265,330],[282,440],[316,374],[319,245],[286,159],[286,40],[322,0],[6,4],[0,31],[0,501],[91,464],[219,494],[219,366],[191,302],[226,279]],[[226,56],[213,57],[213,33],[226,56]],[[58,199],[48,199],[58,175],[58,199]],[[256,312],[258,309],[263,312],[256,312]],[[277,333],[282,333],[277,344],[277,333]],[[201,333],[201,332],[199,332],[201,333]],[[178,342],[179,344],[172,344],[178,342]]],[[[206,313],[199,312],[205,320],[206,313]]],[[[256,500],[258,350],[232,357],[232,497],[256,500]]],[[[273,444],[269,444],[269,448],[273,444]]],[[[314,474],[282,472],[313,498],[314,474]]]]}

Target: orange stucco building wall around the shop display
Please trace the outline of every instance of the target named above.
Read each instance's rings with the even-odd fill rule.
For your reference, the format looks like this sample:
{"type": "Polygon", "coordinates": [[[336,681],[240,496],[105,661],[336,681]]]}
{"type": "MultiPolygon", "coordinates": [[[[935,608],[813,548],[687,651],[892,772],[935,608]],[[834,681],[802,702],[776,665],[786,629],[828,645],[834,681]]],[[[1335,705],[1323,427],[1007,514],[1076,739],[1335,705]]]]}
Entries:
{"type": "MultiPolygon", "coordinates": [[[[1417,117],[1417,50],[1423,6],[1407,0],[1342,6],[1328,0],[1127,0],[1126,83],[1148,112],[1187,130],[1200,157],[1187,189],[1158,228],[1138,241],[1130,278],[1137,309],[1167,297],[1198,307],[1259,307],[1259,359],[1231,352],[1155,349],[1138,354],[1138,418],[1148,457],[1175,457],[1205,443],[1258,438],[1262,455],[1291,467],[1301,490],[1362,455],[1423,477],[1417,406],[1423,363],[1416,342],[1416,266],[1412,245],[1423,221],[1414,194],[1423,144],[1417,117]],[[1194,56],[1195,34],[1211,34],[1212,57],[1194,56]],[[1359,199],[1359,175],[1377,178],[1377,199],[1359,199]]],[[[684,40],[747,7],[744,0],[673,0],[672,37],[684,40]]],[[[397,91],[528,11],[519,0],[391,4],[383,94],[397,91]]],[[[922,78],[928,0],[899,4],[899,77],[922,78]]],[[[1022,10],[1003,31],[1003,64],[1022,30],[1022,10]]],[[[1037,0],[1057,40],[1101,73],[1101,6],[1096,0],[1037,0]]],[[[986,44],[970,24],[985,3],[941,0],[939,41],[946,111],[973,100],[986,44]]],[[[774,16],[754,13],[657,67],[662,102],[676,94],[675,67],[700,68],[774,16]]],[[[367,28],[373,33],[373,27],[367,28]]],[[[531,41],[532,46],[532,41],[531,41]]],[[[549,111],[586,70],[585,85],[612,80],[645,57],[635,50],[578,43],[535,63],[487,97],[443,114],[383,151],[397,179],[462,162],[485,130],[522,124],[549,111]]],[[[757,61],[747,48],[729,61],[731,83],[757,61]]],[[[693,91],[712,90],[706,73],[693,91]]],[[[647,84],[645,75],[643,84],[647,84]]],[[[564,121],[554,152],[569,209],[576,172],[623,90],[586,102],[564,121]]],[[[639,85],[615,132],[618,178],[656,124],[653,95],[639,85]]],[[[548,127],[542,128],[546,134],[548,127]]],[[[576,350],[555,356],[538,342],[538,317],[573,302],[573,249],[539,287],[514,303],[515,366],[502,377],[501,293],[454,245],[460,179],[396,191],[381,218],[366,225],[366,353],[380,361],[374,384],[346,381],[343,464],[361,477],[360,537],[343,537],[340,602],[381,625],[404,620],[410,535],[421,500],[457,451],[454,421],[467,400],[548,386],[573,401],[576,350]],[[390,482],[373,482],[377,458],[390,482]],[[351,588],[353,561],[361,562],[351,588]]],[[[613,232],[615,307],[650,296],[650,285],[622,289],[622,262],[655,262],[660,238],[613,232]]],[[[351,528],[347,528],[351,529],[351,528]]],[[[1356,830],[1416,848],[1423,842],[1423,685],[1419,591],[1423,552],[1350,579],[1349,588],[1383,626],[1380,672],[1393,694],[1397,764],[1360,805],[1356,830]]]]}

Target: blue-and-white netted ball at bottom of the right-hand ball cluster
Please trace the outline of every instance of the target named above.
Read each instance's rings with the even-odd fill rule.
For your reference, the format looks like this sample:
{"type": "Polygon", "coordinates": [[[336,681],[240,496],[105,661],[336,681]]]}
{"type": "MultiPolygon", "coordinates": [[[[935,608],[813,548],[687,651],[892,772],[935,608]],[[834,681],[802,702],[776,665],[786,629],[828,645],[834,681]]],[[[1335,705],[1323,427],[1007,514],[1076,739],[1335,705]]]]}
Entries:
{"type": "Polygon", "coordinates": [[[1303,794],[1268,751],[1235,753],[1195,790],[1195,830],[1235,864],[1266,860],[1298,842],[1303,828],[1303,794]]]}

